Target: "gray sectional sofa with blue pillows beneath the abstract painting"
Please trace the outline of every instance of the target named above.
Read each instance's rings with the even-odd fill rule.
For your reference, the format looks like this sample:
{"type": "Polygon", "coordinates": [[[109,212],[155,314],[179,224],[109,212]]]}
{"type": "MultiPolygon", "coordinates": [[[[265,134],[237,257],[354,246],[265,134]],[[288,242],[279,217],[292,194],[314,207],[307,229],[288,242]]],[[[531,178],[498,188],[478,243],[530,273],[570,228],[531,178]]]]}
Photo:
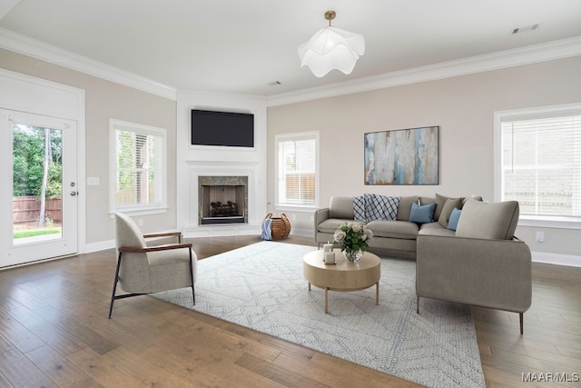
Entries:
{"type": "MultiPolygon", "coordinates": [[[[340,224],[355,220],[353,203],[354,197],[332,197],[329,207],[316,211],[316,242],[332,242],[340,224]]],[[[516,312],[522,334],[532,280],[530,250],[514,236],[518,214],[516,201],[436,194],[400,197],[393,220],[364,223],[375,235],[370,251],[383,248],[416,258],[418,312],[420,297],[516,312]],[[431,219],[422,219],[429,208],[431,219]]]]}

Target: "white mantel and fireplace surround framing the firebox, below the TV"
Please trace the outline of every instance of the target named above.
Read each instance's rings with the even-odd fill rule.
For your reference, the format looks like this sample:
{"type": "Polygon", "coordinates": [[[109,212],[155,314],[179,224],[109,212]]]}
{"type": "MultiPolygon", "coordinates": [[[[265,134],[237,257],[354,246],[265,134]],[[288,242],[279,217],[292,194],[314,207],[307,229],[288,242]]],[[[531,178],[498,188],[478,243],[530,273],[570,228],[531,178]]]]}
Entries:
{"type": "Polygon", "coordinates": [[[264,209],[258,198],[261,197],[259,164],[246,162],[188,161],[189,172],[189,214],[182,229],[184,237],[209,237],[218,235],[261,234],[264,209]],[[245,176],[248,177],[248,223],[246,224],[199,224],[199,177],[200,176],[245,176]]]}

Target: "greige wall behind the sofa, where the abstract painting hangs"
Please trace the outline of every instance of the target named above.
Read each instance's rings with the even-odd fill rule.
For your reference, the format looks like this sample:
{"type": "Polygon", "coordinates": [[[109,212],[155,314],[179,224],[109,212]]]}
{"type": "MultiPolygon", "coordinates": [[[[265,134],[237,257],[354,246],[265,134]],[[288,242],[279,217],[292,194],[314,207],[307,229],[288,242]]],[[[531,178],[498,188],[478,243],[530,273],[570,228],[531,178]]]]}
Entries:
{"type": "MultiPolygon", "coordinates": [[[[470,195],[494,200],[494,112],[581,102],[581,57],[523,65],[476,75],[390,87],[270,107],[268,199],[274,197],[274,136],[320,131],[320,205],[331,195],[470,195]],[[440,126],[438,185],[366,186],[363,134],[440,126]]],[[[279,212],[280,213],[280,212],[279,212]]],[[[293,229],[312,230],[311,214],[294,216],[293,229]]],[[[519,227],[531,250],[581,256],[581,230],[519,227]],[[538,244],[535,232],[544,230],[538,244]]]]}

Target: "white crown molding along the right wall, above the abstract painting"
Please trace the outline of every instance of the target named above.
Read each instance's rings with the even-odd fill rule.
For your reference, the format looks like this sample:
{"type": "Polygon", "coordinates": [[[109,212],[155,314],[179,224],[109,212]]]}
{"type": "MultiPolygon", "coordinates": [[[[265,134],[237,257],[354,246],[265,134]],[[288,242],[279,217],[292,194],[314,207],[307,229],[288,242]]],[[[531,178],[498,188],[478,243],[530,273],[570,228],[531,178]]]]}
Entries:
{"type": "Polygon", "coordinates": [[[278,106],[337,95],[350,95],[393,86],[451,78],[458,75],[471,75],[507,67],[530,65],[577,55],[581,55],[581,36],[546,44],[528,45],[487,55],[471,56],[436,65],[420,66],[383,75],[358,78],[333,85],[271,95],[268,98],[267,105],[278,106]]]}

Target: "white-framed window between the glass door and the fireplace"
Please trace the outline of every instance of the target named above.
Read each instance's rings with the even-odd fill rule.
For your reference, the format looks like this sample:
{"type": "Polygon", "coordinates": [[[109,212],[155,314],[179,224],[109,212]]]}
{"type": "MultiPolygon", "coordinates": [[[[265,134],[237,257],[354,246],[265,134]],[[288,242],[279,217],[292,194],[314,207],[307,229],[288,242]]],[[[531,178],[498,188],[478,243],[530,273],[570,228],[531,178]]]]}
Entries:
{"type": "Polygon", "coordinates": [[[166,200],[166,130],[111,120],[112,211],[158,213],[166,200]]]}

